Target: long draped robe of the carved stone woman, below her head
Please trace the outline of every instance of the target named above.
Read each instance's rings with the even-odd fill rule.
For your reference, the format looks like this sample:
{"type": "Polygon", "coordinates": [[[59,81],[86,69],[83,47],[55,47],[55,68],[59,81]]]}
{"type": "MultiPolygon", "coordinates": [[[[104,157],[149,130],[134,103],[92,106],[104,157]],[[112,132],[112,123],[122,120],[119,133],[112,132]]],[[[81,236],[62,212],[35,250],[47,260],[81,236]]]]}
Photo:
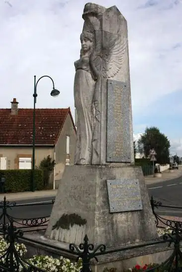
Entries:
{"type": "Polygon", "coordinates": [[[91,164],[95,81],[90,73],[88,56],[81,57],[74,65],[74,103],[78,119],[75,164],[91,164]]]}

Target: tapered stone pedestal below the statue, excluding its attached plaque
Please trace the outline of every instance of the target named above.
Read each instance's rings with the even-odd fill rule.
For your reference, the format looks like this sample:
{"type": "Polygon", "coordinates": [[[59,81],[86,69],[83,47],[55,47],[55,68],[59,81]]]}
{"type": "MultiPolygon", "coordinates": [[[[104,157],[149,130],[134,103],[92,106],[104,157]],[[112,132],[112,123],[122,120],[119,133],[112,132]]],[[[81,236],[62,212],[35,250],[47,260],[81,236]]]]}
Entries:
{"type": "Polygon", "coordinates": [[[148,191],[140,166],[65,166],[45,237],[95,247],[151,241],[158,238],[148,191]],[[138,180],[142,210],[111,213],[107,180],[138,180]]]}

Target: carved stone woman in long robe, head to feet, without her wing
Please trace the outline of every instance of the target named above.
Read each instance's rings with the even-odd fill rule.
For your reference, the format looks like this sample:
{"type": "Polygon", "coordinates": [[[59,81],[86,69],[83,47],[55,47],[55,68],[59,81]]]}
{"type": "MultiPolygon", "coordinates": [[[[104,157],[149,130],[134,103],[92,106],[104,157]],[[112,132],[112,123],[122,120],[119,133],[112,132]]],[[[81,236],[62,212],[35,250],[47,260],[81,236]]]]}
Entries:
{"type": "Polygon", "coordinates": [[[98,77],[92,61],[94,34],[83,32],[80,36],[80,59],[74,62],[74,102],[77,112],[77,140],[75,164],[92,163],[93,96],[98,77]]]}

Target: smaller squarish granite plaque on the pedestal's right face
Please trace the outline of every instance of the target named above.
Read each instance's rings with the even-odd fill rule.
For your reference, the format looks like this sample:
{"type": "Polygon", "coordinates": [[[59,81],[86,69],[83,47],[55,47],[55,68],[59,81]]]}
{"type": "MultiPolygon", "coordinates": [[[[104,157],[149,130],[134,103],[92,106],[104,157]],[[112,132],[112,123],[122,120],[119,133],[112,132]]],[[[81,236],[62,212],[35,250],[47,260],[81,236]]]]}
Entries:
{"type": "Polygon", "coordinates": [[[107,180],[110,213],[142,210],[138,179],[107,180]]]}

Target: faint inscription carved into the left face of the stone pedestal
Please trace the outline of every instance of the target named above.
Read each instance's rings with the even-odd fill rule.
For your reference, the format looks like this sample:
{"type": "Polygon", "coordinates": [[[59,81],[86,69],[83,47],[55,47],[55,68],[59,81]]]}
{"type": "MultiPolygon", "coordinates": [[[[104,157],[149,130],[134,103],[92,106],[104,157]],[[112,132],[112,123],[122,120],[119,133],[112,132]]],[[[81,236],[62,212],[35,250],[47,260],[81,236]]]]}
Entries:
{"type": "Polygon", "coordinates": [[[69,191],[69,199],[71,201],[82,201],[83,199],[89,198],[89,189],[88,186],[82,185],[85,181],[85,177],[83,176],[72,176],[71,177],[72,185],[69,191]],[[75,184],[74,184],[75,183],[75,184]]]}

